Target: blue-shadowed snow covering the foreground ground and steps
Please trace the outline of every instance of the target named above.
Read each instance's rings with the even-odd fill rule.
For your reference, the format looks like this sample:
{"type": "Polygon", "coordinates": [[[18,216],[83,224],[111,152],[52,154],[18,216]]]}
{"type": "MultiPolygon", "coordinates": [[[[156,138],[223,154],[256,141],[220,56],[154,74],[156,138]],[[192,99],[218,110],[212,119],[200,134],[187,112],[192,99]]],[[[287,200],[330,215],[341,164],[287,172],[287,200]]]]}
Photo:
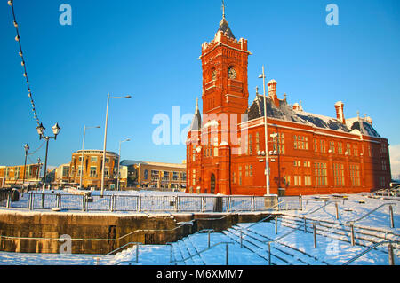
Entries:
{"type": "MultiPolygon", "coordinates": [[[[94,192],[94,194],[99,192],[94,192]]],[[[112,192],[106,192],[112,193],[112,192]]],[[[123,192],[128,193],[128,192],[123,192]]],[[[129,192],[138,194],[139,192],[129,192]]],[[[165,195],[166,192],[140,192],[140,194],[165,195]]],[[[174,195],[184,193],[172,193],[174,195]]],[[[400,206],[396,200],[386,200],[382,198],[371,198],[370,194],[347,194],[343,195],[314,195],[303,196],[303,210],[282,210],[286,216],[307,216],[308,219],[318,221],[330,221],[335,224],[345,225],[348,221],[356,221],[366,215],[374,208],[385,206],[372,212],[369,216],[356,221],[356,226],[370,227],[380,231],[394,232],[400,234],[400,206]],[[326,202],[328,201],[328,202],[326,202]],[[329,203],[332,201],[332,203],[329,203]],[[336,201],[339,208],[339,219],[336,219],[336,201]],[[321,208],[327,204],[324,208],[321,208]],[[389,208],[392,204],[395,228],[390,228],[389,208]],[[321,208],[321,209],[318,209],[321,208]]],[[[80,212],[82,213],[82,212],[80,212]]],[[[291,232],[292,228],[278,225],[278,233],[275,234],[274,222],[264,222],[252,226],[249,231],[244,230],[244,245],[240,248],[238,242],[239,230],[245,229],[250,224],[237,224],[227,232],[215,232],[211,234],[211,245],[218,242],[231,242],[228,245],[228,263],[237,265],[264,265],[268,264],[266,260],[266,240],[276,240],[284,234],[291,232]],[[252,249],[252,250],[251,250],[252,249]]],[[[373,232],[372,232],[373,236],[373,232]]],[[[345,236],[346,237],[346,236],[345,236]]],[[[400,237],[400,236],[398,236],[400,237]]],[[[271,245],[272,252],[277,253],[278,257],[287,260],[290,263],[300,264],[343,264],[350,258],[363,252],[366,247],[351,246],[347,241],[338,240],[334,237],[326,237],[318,234],[316,236],[317,248],[314,248],[313,233],[302,232],[301,229],[292,232],[277,243],[271,245]],[[291,254],[289,256],[289,254],[291,254]],[[291,262],[292,261],[292,262],[291,262]]],[[[207,234],[196,234],[180,240],[173,244],[173,259],[178,260],[177,264],[184,264],[180,261],[188,257],[189,254],[205,250],[208,246],[207,234]]],[[[138,265],[166,265],[170,263],[171,246],[169,245],[140,245],[139,262],[136,260],[136,248],[127,248],[116,255],[55,255],[55,254],[22,254],[0,252],[0,264],[28,264],[28,265],[94,265],[94,264],[131,264],[138,265]],[[99,258],[99,259],[97,259],[99,258]]],[[[395,250],[398,255],[398,250],[395,250]]],[[[400,259],[395,255],[395,262],[400,263],[400,259]]],[[[277,264],[284,262],[274,259],[277,264]]],[[[273,261],[274,261],[273,260],[273,261]]],[[[220,244],[215,248],[202,252],[201,256],[187,260],[186,264],[225,264],[226,263],[226,244],[220,244]]],[[[381,246],[360,257],[354,264],[388,264],[387,245],[381,246]]]]}

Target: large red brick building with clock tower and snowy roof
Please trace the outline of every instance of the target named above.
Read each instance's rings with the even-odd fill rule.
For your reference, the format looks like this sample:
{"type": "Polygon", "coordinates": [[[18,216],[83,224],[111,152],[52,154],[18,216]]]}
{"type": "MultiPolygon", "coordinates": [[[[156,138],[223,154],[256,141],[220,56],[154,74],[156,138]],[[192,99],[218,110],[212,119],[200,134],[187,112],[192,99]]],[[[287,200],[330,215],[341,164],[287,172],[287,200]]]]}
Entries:
{"type": "MultiPolygon", "coordinates": [[[[370,117],[310,114],[268,82],[268,152],[264,96],[249,106],[247,41],[236,40],[223,16],[214,39],[203,43],[203,117],[198,103],[188,130],[187,192],[263,195],[266,155],[270,193],[359,193],[388,187],[388,139],[370,117]]],[[[332,106],[333,108],[333,106],[332,106]]]]}

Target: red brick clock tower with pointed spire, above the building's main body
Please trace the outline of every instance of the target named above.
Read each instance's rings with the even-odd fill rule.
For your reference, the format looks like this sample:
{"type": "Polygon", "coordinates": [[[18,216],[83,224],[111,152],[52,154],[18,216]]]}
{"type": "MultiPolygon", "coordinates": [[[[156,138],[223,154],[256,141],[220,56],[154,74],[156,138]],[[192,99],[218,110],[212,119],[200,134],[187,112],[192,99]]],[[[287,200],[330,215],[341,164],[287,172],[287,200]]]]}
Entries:
{"type": "MultiPolygon", "coordinates": [[[[244,114],[248,107],[247,40],[236,40],[225,19],[210,43],[202,44],[203,114],[244,114]]],[[[206,122],[206,121],[204,121],[206,122]]]]}

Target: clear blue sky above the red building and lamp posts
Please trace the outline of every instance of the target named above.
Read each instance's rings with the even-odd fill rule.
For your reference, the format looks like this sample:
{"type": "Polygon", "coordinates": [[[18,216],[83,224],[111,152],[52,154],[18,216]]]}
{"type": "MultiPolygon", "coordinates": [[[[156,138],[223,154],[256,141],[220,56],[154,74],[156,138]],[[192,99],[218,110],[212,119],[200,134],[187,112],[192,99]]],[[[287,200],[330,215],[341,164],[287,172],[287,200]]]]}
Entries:
{"type": "MultiPolygon", "coordinates": [[[[400,2],[227,0],[226,17],[236,38],[248,40],[249,102],[265,65],[279,97],[302,101],[305,111],[372,117],[381,136],[399,148],[400,2]],[[328,26],[327,4],[339,7],[339,25],[328,26]]],[[[212,40],[221,19],[220,0],[94,1],[14,0],[28,77],[39,119],[50,141],[49,165],[69,162],[82,147],[102,149],[107,93],[111,99],[108,146],[122,159],[181,162],[185,145],[154,145],[155,114],[193,113],[201,98],[201,44],[212,40]],[[72,7],[72,25],[62,26],[60,4],[72,7]]],[[[0,6],[0,164],[22,164],[23,145],[35,151],[36,133],[12,12],[0,6]]],[[[201,100],[200,100],[201,103],[201,100]]],[[[187,125],[180,125],[180,130],[187,125]]],[[[393,154],[396,155],[396,154],[393,154]]],[[[398,154],[397,154],[398,155],[398,154]]],[[[44,146],[29,156],[44,160],[44,146]]],[[[28,161],[29,161],[28,160],[28,161]]],[[[399,170],[400,172],[400,170],[399,170]]]]}

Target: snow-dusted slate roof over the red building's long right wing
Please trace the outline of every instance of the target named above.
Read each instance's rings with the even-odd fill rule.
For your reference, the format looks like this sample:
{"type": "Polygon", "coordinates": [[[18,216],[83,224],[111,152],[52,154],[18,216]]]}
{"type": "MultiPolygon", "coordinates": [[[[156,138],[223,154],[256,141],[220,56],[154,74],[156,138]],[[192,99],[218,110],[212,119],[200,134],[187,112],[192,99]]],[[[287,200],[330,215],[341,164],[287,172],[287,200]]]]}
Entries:
{"type": "MultiPolygon", "coordinates": [[[[380,138],[378,132],[373,129],[372,125],[358,118],[348,119],[346,124],[341,123],[338,119],[323,116],[319,114],[311,114],[304,111],[293,110],[287,104],[285,99],[279,99],[279,107],[276,107],[272,98],[267,97],[267,115],[270,118],[276,118],[288,122],[298,122],[301,124],[315,126],[321,129],[338,130],[341,132],[356,133],[380,138]],[[362,121],[362,129],[360,130],[360,122],[362,121]]],[[[264,116],[264,96],[256,95],[252,105],[248,108],[249,121],[264,116]]]]}

